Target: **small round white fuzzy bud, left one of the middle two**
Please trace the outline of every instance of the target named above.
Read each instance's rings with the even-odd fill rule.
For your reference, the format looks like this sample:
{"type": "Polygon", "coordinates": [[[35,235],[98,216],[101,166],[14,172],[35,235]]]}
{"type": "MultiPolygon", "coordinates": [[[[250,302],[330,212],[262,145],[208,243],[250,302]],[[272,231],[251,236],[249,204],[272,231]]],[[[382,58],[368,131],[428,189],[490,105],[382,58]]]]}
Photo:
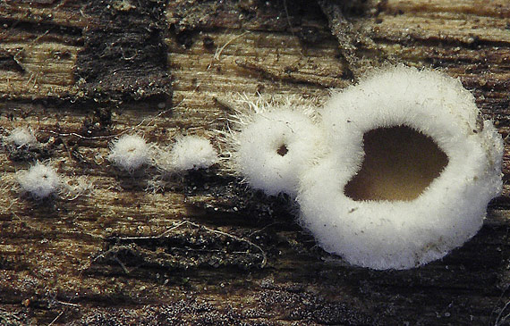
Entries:
{"type": "Polygon", "coordinates": [[[152,153],[144,138],[138,135],[123,135],[111,146],[108,159],[126,171],[135,171],[152,160],[152,153]]]}

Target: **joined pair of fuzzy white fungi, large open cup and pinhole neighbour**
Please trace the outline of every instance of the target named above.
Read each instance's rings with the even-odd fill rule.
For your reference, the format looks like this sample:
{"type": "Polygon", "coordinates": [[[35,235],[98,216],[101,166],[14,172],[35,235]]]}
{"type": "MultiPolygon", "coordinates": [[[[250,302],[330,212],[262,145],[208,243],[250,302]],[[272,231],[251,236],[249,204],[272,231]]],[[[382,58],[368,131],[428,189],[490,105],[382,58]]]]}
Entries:
{"type": "Polygon", "coordinates": [[[297,194],[300,222],[327,252],[409,269],[480,230],[502,188],[503,142],[460,81],[375,71],[333,94],[320,116],[314,124],[274,108],[243,117],[233,159],[253,188],[297,194]]]}

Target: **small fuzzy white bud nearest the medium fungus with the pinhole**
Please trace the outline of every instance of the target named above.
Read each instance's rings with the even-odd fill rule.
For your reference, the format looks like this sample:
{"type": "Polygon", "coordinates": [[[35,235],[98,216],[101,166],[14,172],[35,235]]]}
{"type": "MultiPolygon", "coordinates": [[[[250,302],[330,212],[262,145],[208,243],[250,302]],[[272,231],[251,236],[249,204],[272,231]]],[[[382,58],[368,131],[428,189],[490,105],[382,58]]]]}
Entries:
{"type": "Polygon", "coordinates": [[[217,150],[200,136],[177,138],[170,152],[169,168],[177,171],[206,169],[217,163],[217,150]]]}

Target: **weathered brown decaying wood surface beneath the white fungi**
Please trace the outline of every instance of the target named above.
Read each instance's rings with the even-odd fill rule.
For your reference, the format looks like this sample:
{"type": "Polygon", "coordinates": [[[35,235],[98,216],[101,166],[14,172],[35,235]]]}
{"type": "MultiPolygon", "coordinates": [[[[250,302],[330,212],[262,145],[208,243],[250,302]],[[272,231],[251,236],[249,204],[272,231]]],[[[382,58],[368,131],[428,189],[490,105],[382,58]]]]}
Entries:
{"type": "Polygon", "coordinates": [[[156,170],[106,160],[125,132],[218,144],[233,94],[320,98],[387,63],[459,77],[506,138],[508,1],[346,3],[1,1],[0,131],[30,127],[44,146],[0,153],[0,324],[509,322],[507,186],[442,261],[374,272],[327,255],[292,203],[221,168],[149,191],[156,170]],[[34,203],[13,182],[34,160],[93,187],[34,203]]]}

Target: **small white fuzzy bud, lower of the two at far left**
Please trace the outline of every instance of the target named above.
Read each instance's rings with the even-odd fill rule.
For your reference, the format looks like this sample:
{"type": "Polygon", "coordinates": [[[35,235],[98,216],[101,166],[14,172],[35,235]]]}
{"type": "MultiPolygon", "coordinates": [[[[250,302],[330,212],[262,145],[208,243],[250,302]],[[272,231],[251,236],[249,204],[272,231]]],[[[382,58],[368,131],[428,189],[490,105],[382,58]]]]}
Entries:
{"type": "Polygon", "coordinates": [[[20,172],[18,182],[23,192],[29,193],[36,199],[55,195],[63,185],[55,169],[43,163],[35,163],[28,171],[20,172]]]}

